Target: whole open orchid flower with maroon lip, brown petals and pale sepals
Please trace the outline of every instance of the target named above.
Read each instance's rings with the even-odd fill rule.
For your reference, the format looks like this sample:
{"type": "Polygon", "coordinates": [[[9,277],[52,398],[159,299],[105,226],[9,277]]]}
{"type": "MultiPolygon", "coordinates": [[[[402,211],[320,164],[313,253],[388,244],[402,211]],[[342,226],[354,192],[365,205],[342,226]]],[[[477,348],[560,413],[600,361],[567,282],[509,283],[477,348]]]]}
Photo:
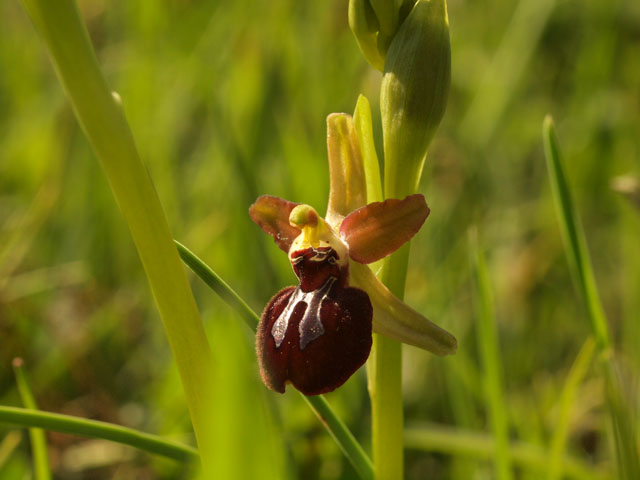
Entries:
{"type": "Polygon", "coordinates": [[[309,205],[263,195],[249,209],[285,251],[298,285],[267,304],[256,335],[264,383],[305,395],[342,385],[369,356],[372,330],[438,355],[456,339],[394,296],[367,264],[415,235],[429,208],[420,194],[366,203],[366,181],[351,116],[327,119],[330,195],[323,219],[309,205]]]}

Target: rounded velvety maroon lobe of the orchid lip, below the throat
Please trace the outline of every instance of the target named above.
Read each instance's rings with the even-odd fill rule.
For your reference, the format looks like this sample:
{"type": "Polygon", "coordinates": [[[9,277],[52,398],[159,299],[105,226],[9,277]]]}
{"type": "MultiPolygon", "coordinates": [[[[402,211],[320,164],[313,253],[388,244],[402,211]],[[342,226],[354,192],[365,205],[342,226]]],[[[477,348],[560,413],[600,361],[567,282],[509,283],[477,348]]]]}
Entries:
{"type": "MultiPolygon", "coordinates": [[[[292,298],[297,287],[278,292],[265,308],[256,336],[256,349],[262,380],[272,390],[284,393],[291,382],[305,395],[319,395],[342,385],[369,356],[373,309],[367,294],[359,288],[330,287],[320,306],[324,332],[303,329],[303,337],[312,340],[303,345],[299,327],[307,303],[292,305],[284,337],[278,347],[273,325],[292,298]]],[[[306,295],[320,295],[322,289],[306,295]]],[[[323,294],[324,295],[324,294],[323,294]]],[[[313,299],[310,303],[313,302],[313,299]]]]}

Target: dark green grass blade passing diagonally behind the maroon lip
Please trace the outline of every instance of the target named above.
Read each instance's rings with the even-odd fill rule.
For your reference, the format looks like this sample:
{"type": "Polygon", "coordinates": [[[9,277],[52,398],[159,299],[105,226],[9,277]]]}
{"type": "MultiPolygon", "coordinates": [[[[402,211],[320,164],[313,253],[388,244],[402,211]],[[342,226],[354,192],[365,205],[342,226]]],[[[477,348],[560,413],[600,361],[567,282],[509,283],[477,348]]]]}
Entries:
{"type": "MultiPolygon", "coordinates": [[[[245,323],[255,332],[260,317],[247,305],[247,303],[238,295],[220,276],[213,271],[206,263],[204,263],[191,250],[175,241],[175,244],[182,257],[184,263],[195,273],[200,279],[218,294],[230,307],[235,309],[243,318],[245,323]]],[[[351,431],[344,422],[336,415],[336,413],[327,402],[323,395],[307,397],[300,394],[313,412],[320,419],[329,434],[336,441],[344,455],[347,457],[351,465],[363,479],[373,478],[373,465],[362,446],[355,439],[351,431]]]]}

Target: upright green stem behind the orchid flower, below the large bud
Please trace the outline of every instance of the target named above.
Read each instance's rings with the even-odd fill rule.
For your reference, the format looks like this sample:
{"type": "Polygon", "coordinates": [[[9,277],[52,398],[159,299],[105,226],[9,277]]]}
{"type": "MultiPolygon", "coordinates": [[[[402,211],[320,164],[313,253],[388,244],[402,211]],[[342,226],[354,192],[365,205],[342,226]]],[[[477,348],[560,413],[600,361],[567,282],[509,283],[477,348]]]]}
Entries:
{"type": "MultiPolygon", "coordinates": [[[[398,298],[404,297],[409,262],[409,245],[386,258],[380,280],[398,298]]],[[[369,359],[371,436],[373,464],[377,480],[404,478],[402,404],[402,343],[383,335],[373,335],[369,359]]]]}

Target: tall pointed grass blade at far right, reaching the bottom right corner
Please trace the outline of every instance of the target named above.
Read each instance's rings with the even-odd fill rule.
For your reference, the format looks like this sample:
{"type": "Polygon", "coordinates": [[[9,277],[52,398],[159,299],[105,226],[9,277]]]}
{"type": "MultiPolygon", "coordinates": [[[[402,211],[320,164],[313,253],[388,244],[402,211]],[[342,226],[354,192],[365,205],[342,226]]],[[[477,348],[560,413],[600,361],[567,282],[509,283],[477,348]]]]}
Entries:
{"type": "Polygon", "coordinates": [[[618,475],[622,479],[640,478],[636,416],[623,396],[613,363],[612,345],[602,302],[598,294],[589,250],[580,216],[573,204],[571,191],[562,165],[558,139],[550,116],[542,125],[547,169],[551,182],[565,253],[574,284],[587,311],[593,329],[605,380],[605,397],[614,434],[618,475]]]}

